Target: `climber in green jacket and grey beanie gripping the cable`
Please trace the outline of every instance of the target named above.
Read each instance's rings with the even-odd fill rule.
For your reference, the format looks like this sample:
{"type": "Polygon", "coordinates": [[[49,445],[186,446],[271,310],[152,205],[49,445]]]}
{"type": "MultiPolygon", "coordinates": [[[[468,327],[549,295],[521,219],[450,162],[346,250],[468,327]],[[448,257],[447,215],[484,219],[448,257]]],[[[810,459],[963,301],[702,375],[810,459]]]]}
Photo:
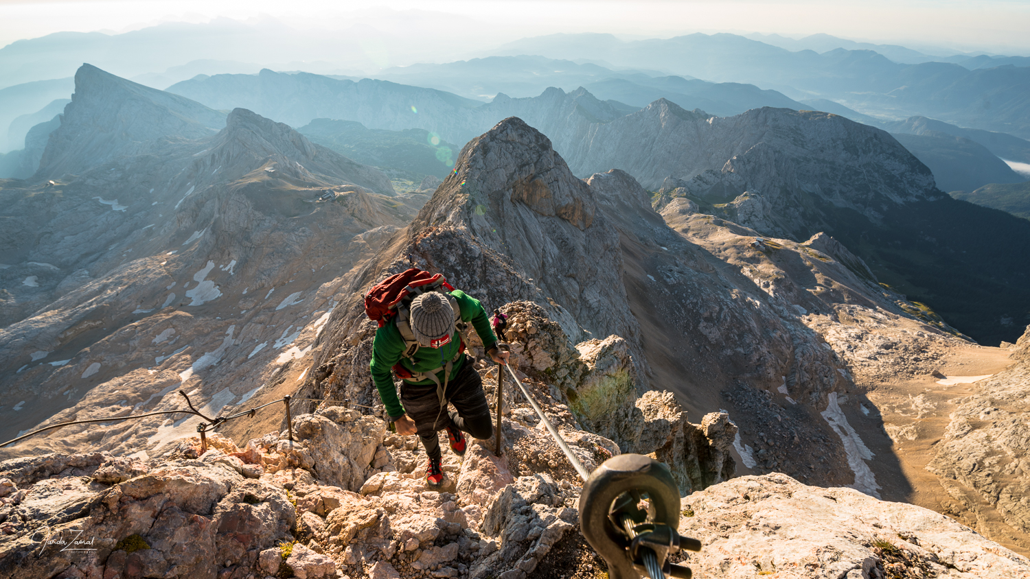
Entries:
{"type": "Polygon", "coordinates": [[[398,434],[418,434],[422,439],[430,458],[425,479],[432,486],[443,482],[437,432],[447,430],[450,447],[457,455],[466,450],[462,431],[479,439],[493,435],[483,382],[464,353],[455,319],[472,323],[490,359],[508,362],[509,353],[497,347],[482,304],[460,290],[431,291],[411,301],[408,320],[418,341],[411,357],[404,356],[408,346],[397,323],[380,327],[372,345],[372,381],[398,434]],[[391,370],[403,378],[401,400],[391,370]],[[448,402],[456,411],[444,411],[448,402]]]}

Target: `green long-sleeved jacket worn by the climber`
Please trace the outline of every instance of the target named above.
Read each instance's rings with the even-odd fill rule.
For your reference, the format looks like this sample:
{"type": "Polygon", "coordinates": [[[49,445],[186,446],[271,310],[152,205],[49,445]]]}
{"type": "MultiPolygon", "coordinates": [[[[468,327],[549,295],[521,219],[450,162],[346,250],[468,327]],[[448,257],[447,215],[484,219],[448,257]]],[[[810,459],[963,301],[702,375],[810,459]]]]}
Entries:
{"type": "MultiPolygon", "coordinates": [[[[472,322],[472,326],[476,328],[476,333],[479,334],[483,346],[489,351],[496,345],[497,338],[493,335],[493,330],[490,329],[490,321],[486,316],[486,311],[483,310],[483,305],[478,299],[467,295],[461,290],[454,290],[450,294],[457,300],[458,310],[461,311],[461,320],[464,322],[472,322]]],[[[401,331],[397,329],[397,324],[392,320],[376,330],[376,337],[372,341],[372,363],[369,366],[372,370],[372,382],[376,385],[376,390],[379,391],[379,398],[382,399],[383,405],[386,406],[386,413],[389,414],[391,420],[397,420],[404,415],[404,408],[401,406],[401,401],[398,400],[397,388],[393,386],[393,376],[391,375],[393,365],[401,362],[404,367],[412,370],[414,373],[439,368],[446,365],[447,360],[450,360],[457,354],[459,343],[460,339],[457,335],[457,330],[455,330],[451,334],[450,343],[446,343],[441,348],[419,348],[412,359],[408,359],[401,356],[405,351],[404,338],[401,336],[401,331]]],[[[451,379],[457,375],[464,363],[465,357],[455,362],[451,368],[451,375],[447,379],[451,379]]],[[[441,374],[443,374],[443,370],[437,374],[437,377],[443,383],[441,374]]],[[[424,379],[409,384],[423,385],[435,383],[432,379],[424,379]]]]}

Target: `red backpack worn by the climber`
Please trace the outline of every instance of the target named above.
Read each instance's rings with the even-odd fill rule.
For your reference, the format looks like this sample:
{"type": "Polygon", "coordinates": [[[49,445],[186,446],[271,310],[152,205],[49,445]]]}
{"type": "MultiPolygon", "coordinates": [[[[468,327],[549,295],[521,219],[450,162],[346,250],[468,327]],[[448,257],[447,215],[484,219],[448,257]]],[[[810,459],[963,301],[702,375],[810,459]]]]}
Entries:
{"type": "MultiPolygon", "coordinates": [[[[461,322],[461,312],[458,309],[457,300],[450,293],[447,293],[454,291],[454,288],[447,283],[443,274],[430,274],[417,267],[411,267],[386,278],[365,294],[365,314],[370,319],[375,320],[380,328],[390,322],[396,323],[407,347],[402,356],[410,359],[419,348],[409,322],[411,300],[419,294],[437,291],[441,288],[447,290],[441,293],[447,296],[451,309],[454,310],[454,326],[458,330],[458,336],[462,338],[458,354],[455,356],[457,358],[465,352],[462,334],[466,330],[466,324],[461,322]]],[[[411,371],[400,363],[393,366],[393,371],[402,378],[413,377],[411,371]]]]}

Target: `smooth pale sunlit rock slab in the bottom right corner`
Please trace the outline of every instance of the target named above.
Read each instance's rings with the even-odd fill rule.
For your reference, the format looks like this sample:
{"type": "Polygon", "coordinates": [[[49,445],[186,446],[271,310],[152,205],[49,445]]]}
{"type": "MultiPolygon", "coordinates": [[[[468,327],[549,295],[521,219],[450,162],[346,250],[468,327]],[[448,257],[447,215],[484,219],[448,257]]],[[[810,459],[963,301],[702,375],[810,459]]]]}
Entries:
{"type": "Polygon", "coordinates": [[[1030,559],[933,511],[783,474],[743,476],[682,500],[695,575],[743,578],[1030,577],[1030,559]]]}

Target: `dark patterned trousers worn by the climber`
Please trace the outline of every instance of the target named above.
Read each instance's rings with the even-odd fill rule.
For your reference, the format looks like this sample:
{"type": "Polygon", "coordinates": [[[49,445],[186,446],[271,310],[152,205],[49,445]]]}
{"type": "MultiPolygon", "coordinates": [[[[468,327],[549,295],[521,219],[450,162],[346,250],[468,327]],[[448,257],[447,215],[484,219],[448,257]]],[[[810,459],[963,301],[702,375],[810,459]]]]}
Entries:
{"type": "Polygon", "coordinates": [[[444,398],[444,403],[450,402],[456,412],[446,408],[441,410],[435,384],[416,386],[405,383],[401,387],[401,403],[408,418],[415,421],[418,436],[431,459],[441,457],[437,432],[448,426],[481,440],[493,436],[493,421],[483,392],[483,381],[473,368],[471,359],[466,359],[457,375],[447,383],[444,398]]]}

